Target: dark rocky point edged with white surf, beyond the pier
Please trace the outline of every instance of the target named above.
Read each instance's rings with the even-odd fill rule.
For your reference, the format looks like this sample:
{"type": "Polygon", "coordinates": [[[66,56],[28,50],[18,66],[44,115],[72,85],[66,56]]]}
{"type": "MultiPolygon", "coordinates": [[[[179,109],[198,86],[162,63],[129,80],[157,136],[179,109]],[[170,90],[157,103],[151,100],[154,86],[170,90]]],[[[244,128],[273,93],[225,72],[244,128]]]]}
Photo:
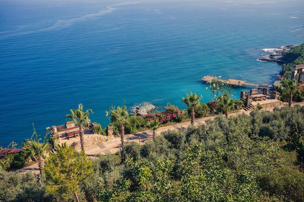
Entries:
{"type": "Polygon", "coordinates": [[[295,45],[283,46],[281,48],[264,48],[265,52],[271,53],[270,55],[263,56],[262,59],[258,59],[260,62],[277,62],[286,63],[281,58],[290,50],[290,48],[296,47],[295,45]]]}

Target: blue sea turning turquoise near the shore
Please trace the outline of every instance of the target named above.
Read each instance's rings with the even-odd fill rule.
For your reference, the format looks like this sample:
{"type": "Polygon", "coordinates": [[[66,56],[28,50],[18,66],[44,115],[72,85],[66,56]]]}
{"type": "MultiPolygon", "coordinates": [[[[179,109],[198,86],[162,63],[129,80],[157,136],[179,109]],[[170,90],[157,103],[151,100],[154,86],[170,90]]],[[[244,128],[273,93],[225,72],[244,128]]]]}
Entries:
{"type": "Polygon", "coordinates": [[[303,0],[0,0],[0,146],[79,103],[105,128],[124,102],[207,103],[206,75],[272,84],[282,68],[263,49],[302,43],[303,0]]]}

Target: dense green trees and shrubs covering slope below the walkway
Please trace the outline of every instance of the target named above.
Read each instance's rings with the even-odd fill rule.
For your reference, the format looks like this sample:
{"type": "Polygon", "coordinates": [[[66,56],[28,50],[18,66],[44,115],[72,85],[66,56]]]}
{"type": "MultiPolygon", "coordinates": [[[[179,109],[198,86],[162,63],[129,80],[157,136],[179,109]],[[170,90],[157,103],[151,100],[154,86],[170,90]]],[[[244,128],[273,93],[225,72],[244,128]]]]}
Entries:
{"type": "MultiPolygon", "coordinates": [[[[94,173],[75,183],[79,198],[100,202],[302,202],[303,123],[304,107],[284,107],[271,113],[255,110],[250,116],[217,116],[198,127],[163,132],[143,146],[126,142],[117,155],[92,159],[94,173]]],[[[46,192],[46,183],[50,184],[45,178],[37,181],[30,173],[2,171],[0,202],[73,200],[70,195],[62,199],[61,190],[46,192]]]]}

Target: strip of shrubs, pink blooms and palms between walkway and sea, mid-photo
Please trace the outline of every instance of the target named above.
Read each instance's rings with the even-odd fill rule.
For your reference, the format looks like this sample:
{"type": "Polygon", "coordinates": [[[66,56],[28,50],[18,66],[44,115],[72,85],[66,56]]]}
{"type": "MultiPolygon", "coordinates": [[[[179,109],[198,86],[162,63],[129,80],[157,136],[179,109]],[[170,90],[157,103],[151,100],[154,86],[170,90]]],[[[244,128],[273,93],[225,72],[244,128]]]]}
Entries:
{"type": "MultiPolygon", "coordinates": [[[[200,95],[196,95],[195,93],[186,95],[187,98],[182,100],[190,102],[188,103],[188,109],[184,110],[178,109],[178,107],[168,103],[164,111],[153,111],[142,116],[136,116],[134,113],[128,113],[125,104],[122,107],[117,108],[112,106],[107,111],[107,116],[109,120],[112,121],[109,125],[113,126],[114,133],[116,134],[121,134],[122,131],[127,134],[133,134],[138,131],[152,129],[151,122],[155,120],[159,121],[162,125],[181,123],[189,120],[189,118],[192,117],[191,114],[194,114],[194,118],[201,118],[221,112],[228,113],[229,111],[239,110],[244,107],[241,100],[234,100],[230,97],[228,97],[228,99],[224,99],[228,100],[228,105],[225,104],[225,102],[221,102],[223,100],[222,96],[219,97],[219,99],[216,99],[213,105],[211,104],[212,102],[207,104],[199,102],[198,99],[200,98],[200,95]],[[197,100],[195,101],[194,99],[197,100]],[[194,110],[194,113],[192,109],[194,110]],[[123,128],[121,126],[123,126],[123,128]]],[[[194,118],[192,117],[191,120],[194,120],[194,118]]]]}

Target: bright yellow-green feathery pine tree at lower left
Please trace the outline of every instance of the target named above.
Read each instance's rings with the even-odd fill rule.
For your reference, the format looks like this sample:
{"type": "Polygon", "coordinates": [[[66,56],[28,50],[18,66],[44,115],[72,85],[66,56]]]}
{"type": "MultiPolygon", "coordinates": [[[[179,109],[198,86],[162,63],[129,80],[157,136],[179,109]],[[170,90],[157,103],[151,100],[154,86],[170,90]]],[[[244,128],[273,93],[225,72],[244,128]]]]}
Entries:
{"type": "Polygon", "coordinates": [[[59,193],[63,200],[71,195],[78,199],[79,183],[93,173],[93,164],[82,150],[74,152],[74,148],[62,144],[50,153],[45,162],[46,192],[59,193]]]}

